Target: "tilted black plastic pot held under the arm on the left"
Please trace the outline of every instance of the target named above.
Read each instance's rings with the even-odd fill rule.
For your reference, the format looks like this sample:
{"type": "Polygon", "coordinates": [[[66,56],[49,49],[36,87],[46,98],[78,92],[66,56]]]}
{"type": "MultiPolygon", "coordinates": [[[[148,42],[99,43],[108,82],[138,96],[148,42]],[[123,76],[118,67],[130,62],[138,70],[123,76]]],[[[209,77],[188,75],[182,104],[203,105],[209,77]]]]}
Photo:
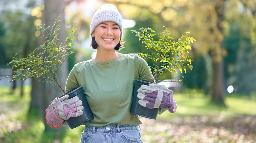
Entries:
{"type": "MultiPolygon", "coordinates": [[[[69,92],[67,92],[67,94],[69,95],[68,99],[71,99],[75,96],[79,97],[79,99],[83,102],[82,106],[84,106],[84,109],[83,109],[84,113],[81,116],[71,117],[68,120],[66,120],[66,122],[68,123],[68,125],[71,129],[74,129],[74,128],[82,125],[85,121],[93,119],[93,113],[92,113],[90,106],[85,98],[82,86],[70,90],[69,92]]],[[[64,95],[62,95],[62,96],[64,96],[64,95]]],[[[60,96],[60,97],[62,97],[62,96],[60,96]]],[[[58,98],[60,98],[60,97],[58,97],[58,98]]]]}

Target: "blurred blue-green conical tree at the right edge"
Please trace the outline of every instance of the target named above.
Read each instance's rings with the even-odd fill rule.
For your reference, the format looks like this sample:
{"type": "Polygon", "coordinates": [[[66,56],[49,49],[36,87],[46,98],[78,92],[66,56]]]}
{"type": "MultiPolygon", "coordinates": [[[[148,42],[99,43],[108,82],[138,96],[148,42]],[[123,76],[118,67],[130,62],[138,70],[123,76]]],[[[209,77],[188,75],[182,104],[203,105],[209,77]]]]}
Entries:
{"type": "Polygon", "coordinates": [[[255,46],[248,43],[250,43],[249,39],[243,38],[240,40],[239,46],[243,48],[237,51],[236,65],[229,67],[232,71],[231,75],[235,76],[231,76],[228,82],[237,90],[236,93],[251,96],[250,94],[256,92],[256,49],[255,46]]]}

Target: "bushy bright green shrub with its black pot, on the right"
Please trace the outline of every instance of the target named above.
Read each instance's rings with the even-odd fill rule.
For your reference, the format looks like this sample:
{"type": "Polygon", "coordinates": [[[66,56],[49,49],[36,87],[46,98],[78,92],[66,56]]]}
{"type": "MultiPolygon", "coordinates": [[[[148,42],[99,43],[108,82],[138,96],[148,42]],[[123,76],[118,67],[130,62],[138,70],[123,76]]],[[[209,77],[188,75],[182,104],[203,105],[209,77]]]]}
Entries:
{"type": "MultiPolygon", "coordinates": [[[[166,27],[164,31],[159,34],[159,39],[154,40],[153,37],[156,35],[155,31],[151,28],[140,28],[139,31],[132,30],[135,33],[135,36],[145,44],[145,47],[149,50],[149,54],[138,53],[139,56],[147,60],[152,60],[153,67],[151,72],[153,78],[151,83],[154,83],[157,80],[158,75],[161,75],[165,71],[177,73],[176,70],[180,70],[181,73],[184,71],[186,73],[186,67],[192,70],[190,56],[185,55],[184,53],[189,53],[188,50],[191,50],[191,43],[196,41],[193,37],[188,37],[186,34],[182,34],[181,38],[177,41],[173,41],[173,37],[170,35],[170,32],[166,27]]],[[[182,76],[183,77],[183,76],[182,76]]],[[[175,81],[178,80],[177,77],[173,76],[175,81]]],[[[137,97],[137,90],[141,85],[148,85],[150,82],[145,82],[141,80],[134,80],[134,92],[133,92],[133,101],[131,105],[131,113],[146,117],[149,119],[156,119],[159,108],[149,109],[141,106],[137,97]]]]}

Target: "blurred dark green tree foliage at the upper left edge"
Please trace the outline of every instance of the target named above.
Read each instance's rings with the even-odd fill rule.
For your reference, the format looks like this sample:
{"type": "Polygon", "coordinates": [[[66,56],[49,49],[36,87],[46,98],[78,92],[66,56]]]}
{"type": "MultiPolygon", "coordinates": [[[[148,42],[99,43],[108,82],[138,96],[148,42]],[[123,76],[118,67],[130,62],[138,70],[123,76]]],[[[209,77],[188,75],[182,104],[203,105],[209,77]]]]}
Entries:
{"type": "MultiPolygon", "coordinates": [[[[12,56],[25,57],[36,45],[34,17],[21,10],[3,10],[0,17],[0,67],[5,68],[12,56]]],[[[8,67],[10,68],[10,67],[8,67]]]]}

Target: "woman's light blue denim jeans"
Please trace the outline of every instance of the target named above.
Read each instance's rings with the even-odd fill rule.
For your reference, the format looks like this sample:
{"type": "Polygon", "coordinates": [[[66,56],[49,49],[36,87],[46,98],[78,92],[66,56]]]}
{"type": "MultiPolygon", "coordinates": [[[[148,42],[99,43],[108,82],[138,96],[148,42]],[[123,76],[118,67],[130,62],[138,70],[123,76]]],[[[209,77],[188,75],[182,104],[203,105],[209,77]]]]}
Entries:
{"type": "Polygon", "coordinates": [[[80,143],[142,143],[138,125],[85,125],[80,143]]]}

